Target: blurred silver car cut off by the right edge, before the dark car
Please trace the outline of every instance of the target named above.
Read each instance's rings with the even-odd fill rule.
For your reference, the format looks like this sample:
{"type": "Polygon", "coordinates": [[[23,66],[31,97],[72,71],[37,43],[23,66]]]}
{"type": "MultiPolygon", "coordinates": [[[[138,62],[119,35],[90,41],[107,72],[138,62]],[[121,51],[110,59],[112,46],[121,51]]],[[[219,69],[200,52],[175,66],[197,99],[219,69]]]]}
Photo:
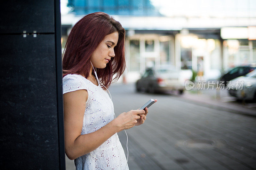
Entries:
{"type": "Polygon", "coordinates": [[[230,86],[228,93],[237,99],[256,99],[256,70],[231,80],[228,86],[230,86]],[[241,84],[242,87],[239,87],[241,84]]]}

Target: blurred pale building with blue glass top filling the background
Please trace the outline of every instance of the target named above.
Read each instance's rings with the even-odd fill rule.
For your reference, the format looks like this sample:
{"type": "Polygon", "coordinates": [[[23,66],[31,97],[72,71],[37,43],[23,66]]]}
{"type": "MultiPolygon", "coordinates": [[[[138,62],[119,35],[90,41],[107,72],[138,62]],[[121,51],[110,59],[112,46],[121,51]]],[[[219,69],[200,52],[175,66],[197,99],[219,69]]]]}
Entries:
{"type": "Polygon", "coordinates": [[[62,14],[61,19],[62,45],[80,18],[102,11],[127,31],[124,75],[130,82],[136,81],[147,67],[170,65],[185,74],[195,70],[207,80],[216,79],[237,65],[256,61],[255,1],[163,2],[69,0],[67,5],[72,11],[62,14]]]}

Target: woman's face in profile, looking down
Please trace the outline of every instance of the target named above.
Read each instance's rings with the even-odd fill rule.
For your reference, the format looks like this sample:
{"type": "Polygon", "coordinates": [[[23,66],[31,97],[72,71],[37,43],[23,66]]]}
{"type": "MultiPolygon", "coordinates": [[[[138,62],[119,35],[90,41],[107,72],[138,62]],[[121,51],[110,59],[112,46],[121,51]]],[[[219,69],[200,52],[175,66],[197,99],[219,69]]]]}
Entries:
{"type": "Polygon", "coordinates": [[[114,47],[118,41],[118,32],[108,34],[92,53],[93,67],[105,68],[111,57],[115,57],[114,47]]]}

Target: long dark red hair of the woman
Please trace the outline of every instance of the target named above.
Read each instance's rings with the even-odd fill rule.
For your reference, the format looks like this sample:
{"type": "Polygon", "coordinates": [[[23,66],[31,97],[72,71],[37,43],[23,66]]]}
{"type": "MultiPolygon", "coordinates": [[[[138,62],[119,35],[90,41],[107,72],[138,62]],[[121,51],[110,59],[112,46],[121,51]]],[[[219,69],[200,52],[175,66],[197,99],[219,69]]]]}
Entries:
{"type": "MultiPolygon", "coordinates": [[[[117,45],[105,68],[98,68],[97,75],[107,88],[111,82],[117,81],[125,69],[124,38],[122,25],[104,12],[94,12],[84,16],[72,28],[68,35],[63,53],[62,76],[67,74],[84,74],[88,78],[91,62],[90,57],[104,37],[118,32],[117,45]],[[115,78],[113,78],[115,75],[115,78]]],[[[94,73],[92,72],[94,75],[94,73]]]]}

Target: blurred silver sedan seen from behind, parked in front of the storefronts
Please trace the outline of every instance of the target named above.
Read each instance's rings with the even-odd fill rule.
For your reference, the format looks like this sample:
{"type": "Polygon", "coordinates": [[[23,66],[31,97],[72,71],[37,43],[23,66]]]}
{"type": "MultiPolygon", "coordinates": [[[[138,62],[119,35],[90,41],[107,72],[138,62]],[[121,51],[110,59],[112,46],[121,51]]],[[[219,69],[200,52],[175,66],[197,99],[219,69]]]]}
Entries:
{"type": "Polygon", "coordinates": [[[185,89],[179,71],[171,67],[148,68],[136,82],[136,90],[149,93],[176,90],[182,94],[185,89]]]}

